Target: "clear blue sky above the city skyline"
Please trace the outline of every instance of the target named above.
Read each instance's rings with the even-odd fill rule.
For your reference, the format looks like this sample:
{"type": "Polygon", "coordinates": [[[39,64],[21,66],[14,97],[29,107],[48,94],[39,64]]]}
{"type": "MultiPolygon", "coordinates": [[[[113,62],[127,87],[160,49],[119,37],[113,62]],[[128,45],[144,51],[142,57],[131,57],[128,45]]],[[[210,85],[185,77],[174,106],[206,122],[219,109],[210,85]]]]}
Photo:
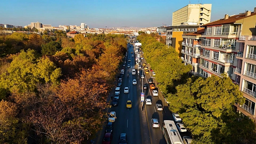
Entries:
{"type": "MultiPolygon", "coordinates": [[[[201,0],[190,0],[191,4],[201,0]]],[[[256,0],[202,0],[212,4],[211,21],[253,11],[256,0]]],[[[152,27],[171,25],[172,12],[189,0],[3,0],[0,23],[25,26],[30,22],[103,28],[118,26],[152,27]]]]}

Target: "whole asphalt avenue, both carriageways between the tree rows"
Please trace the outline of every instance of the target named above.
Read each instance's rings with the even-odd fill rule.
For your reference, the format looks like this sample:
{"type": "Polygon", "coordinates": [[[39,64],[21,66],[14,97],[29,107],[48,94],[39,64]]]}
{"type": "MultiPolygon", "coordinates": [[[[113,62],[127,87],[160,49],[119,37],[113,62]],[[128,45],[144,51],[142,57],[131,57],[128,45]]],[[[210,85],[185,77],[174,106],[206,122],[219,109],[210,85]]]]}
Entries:
{"type": "MultiPolygon", "coordinates": [[[[144,144],[144,133],[143,133],[143,128],[144,131],[145,129],[148,129],[149,135],[148,137],[150,138],[150,143],[151,144],[166,144],[165,138],[163,136],[162,132],[162,122],[164,120],[172,120],[172,114],[168,110],[168,104],[164,101],[163,96],[161,95],[161,92],[158,92],[158,96],[153,96],[151,89],[146,89],[143,90],[145,93],[145,99],[150,98],[152,100],[152,105],[144,105],[145,111],[142,111],[141,109],[141,102],[140,102],[140,92],[141,89],[143,88],[143,84],[148,83],[148,79],[152,76],[152,72],[150,71],[149,74],[144,74],[145,78],[142,79],[140,78],[140,75],[143,73],[143,71],[140,69],[140,75],[138,77],[138,72],[137,72],[137,66],[136,66],[136,61],[135,61],[135,48],[133,47],[132,44],[130,44],[131,47],[129,46],[128,49],[128,54],[127,54],[127,62],[125,65],[125,70],[124,70],[124,76],[122,79],[122,85],[121,85],[121,90],[120,90],[120,97],[119,97],[119,102],[118,106],[112,106],[108,110],[116,112],[116,121],[114,122],[114,128],[113,128],[113,139],[111,144],[116,144],[118,143],[119,135],[121,133],[126,133],[128,136],[128,143],[129,144],[144,144]],[[133,53],[131,53],[133,52],[133,53]],[[134,57],[131,57],[132,54],[134,57]],[[131,59],[131,61],[128,61],[128,59],[131,59]],[[127,67],[127,65],[130,64],[131,67],[127,67]],[[132,69],[136,69],[136,75],[132,75],[132,69]],[[129,74],[129,77],[127,77],[127,74],[129,74]],[[136,79],[137,80],[137,85],[132,84],[132,80],[136,79]],[[129,93],[124,93],[124,88],[129,87],[129,93]],[[126,108],[126,102],[127,100],[132,101],[132,108],[126,108]],[[160,103],[163,105],[163,111],[158,111],[155,107],[156,103],[160,103]],[[141,117],[143,117],[143,113],[146,113],[146,119],[147,119],[147,124],[148,127],[145,128],[142,126],[141,117]],[[151,119],[152,118],[157,118],[159,120],[160,127],[159,128],[153,128],[151,125],[151,119]]],[[[146,62],[146,60],[141,60],[141,65],[146,62]]],[[[150,67],[150,65],[147,65],[150,67]]],[[[156,84],[157,87],[157,82],[154,79],[154,83],[156,84]]],[[[111,94],[114,97],[114,93],[111,94]]],[[[111,104],[111,103],[110,103],[111,104]]],[[[145,122],[144,122],[145,123],[145,122]]],[[[105,129],[103,128],[101,134],[99,134],[98,139],[97,139],[97,144],[102,143],[102,139],[104,136],[104,131],[105,129]]],[[[185,133],[180,133],[180,135],[183,136],[188,136],[188,132],[185,133]]]]}

